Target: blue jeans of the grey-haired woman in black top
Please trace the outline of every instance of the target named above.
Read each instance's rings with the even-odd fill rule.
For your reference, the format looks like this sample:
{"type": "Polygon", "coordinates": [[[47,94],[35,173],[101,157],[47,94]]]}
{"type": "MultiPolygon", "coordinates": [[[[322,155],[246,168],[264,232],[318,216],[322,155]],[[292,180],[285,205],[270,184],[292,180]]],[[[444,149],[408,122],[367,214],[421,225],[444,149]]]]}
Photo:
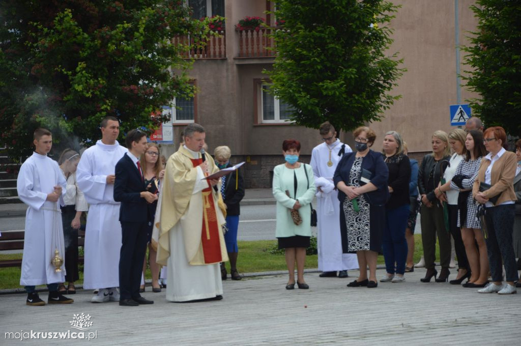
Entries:
{"type": "Polygon", "coordinates": [[[386,209],[386,227],[383,230],[382,250],[389,274],[404,274],[407,260],[405,228],[409,217],[409,204],[386,209]]]}

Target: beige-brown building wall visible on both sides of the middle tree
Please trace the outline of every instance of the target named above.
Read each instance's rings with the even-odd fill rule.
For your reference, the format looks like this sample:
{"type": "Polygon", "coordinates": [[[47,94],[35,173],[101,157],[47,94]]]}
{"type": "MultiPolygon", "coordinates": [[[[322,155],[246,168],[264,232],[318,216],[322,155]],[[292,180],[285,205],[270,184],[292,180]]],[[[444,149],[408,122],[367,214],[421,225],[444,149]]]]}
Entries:
{"type": "MultiPolygon", "coordinates": [[[[373,147],[381,150],[383,134],[400,132],[413,156],[431,150],[431,134],[435,130],[451,131],[449,105],[457,103],[455,1],[394,0],[402,8],[390,26],[394,43],[390,54],[399,52],[407,69],[392,94],[402,98],[383,114],[381,122],[370,124],[378,135],[373,147]]],[[[475,30],[476,19],[469,9],[474,0],[458,0],[460,44],[465,35],[475,30]]],[[[189,76],[195,80],[196,122],[207,130],[208,151],[228,145],[233,162],[247,160],[247,187],[268,187],[275,165],[283,162],[281,145],[287,138],[301,141],[303,160],[309,159],[313,147],[321,143],[317,130],[287,124],[256,124],[254,81],[266,78],[274,58],[239,58],[239,34],[235,24],[245,16],[266,18],[265,0],[226,0],[226,57],[197,59],[189,76]]],[[[270,5],[272,6],[272,5],[270,5]]],[[[271,18],[273,21],[273,18],[271,18]]],[[[464,54],[461,54],[461,61],[464,54]]],[[[461,71],[465,66],[461,65],[461,71]]],[[[462,103],[473,97],[461,88],[462,103]]],[[[177,150],[184,126],[174,126],[176,144],[165,148],[166,154],[177,150]]],[[[352,145],[351,133],[340,138],[352,145]]]]}

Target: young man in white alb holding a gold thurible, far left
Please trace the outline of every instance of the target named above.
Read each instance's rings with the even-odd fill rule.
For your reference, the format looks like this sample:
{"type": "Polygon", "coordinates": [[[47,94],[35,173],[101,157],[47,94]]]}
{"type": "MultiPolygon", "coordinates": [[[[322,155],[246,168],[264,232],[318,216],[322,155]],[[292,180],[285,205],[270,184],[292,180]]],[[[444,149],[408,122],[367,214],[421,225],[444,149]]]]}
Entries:
{"type": "Polygon", "coordinates": [[[58,163],[47,156],[53,145],[51,132],[36,129],[33,144],[36,149],[20,167],[16,182],[20,200],[29,206],[20,285],[27,290],[27,305],[45,305],[35,292],[35,286],[43,284],[49,290],[49,304],[70,304],[73,300],[58,292],[58,283],[65,280],[65,266],[51,262],[56,250],[62,260],[65,255],[59,204],[65,205],[62,193],[67,182],[58,163]]]}

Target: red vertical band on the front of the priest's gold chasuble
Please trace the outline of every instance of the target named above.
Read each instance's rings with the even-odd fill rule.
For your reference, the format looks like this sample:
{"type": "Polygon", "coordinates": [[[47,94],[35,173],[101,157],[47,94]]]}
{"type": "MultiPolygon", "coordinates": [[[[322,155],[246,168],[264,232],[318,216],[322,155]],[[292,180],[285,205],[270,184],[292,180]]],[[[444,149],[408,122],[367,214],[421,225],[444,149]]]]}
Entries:
{"type": "MultiPolygon", "coordinates": [[[[203,163],[202,158],[192,158],[194,167],[203,163]]],[[[212,264],[222,262],[221,244],[219,241],[219,225],[217,224],[217,213],[215,211],[212,186],[208,181],[208,187],[203,191],[203,231],[201,242],[203,246],[204,263],[212,264]]]]}

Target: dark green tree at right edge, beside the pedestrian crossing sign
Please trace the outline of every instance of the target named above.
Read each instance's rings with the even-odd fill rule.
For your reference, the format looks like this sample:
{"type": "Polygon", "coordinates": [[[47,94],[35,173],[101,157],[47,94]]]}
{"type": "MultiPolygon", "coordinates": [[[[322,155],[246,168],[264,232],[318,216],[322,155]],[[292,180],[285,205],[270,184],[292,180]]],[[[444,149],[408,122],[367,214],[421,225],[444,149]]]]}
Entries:
{"type": "Polygon", "coordinates": [[[521,3],[513,0],[477,0],[470,7],[478,19],[465,64],[466,87],[479,94],[468,100],[473,115],[488,126],[502,126],[521,134],[521,3]]]}

